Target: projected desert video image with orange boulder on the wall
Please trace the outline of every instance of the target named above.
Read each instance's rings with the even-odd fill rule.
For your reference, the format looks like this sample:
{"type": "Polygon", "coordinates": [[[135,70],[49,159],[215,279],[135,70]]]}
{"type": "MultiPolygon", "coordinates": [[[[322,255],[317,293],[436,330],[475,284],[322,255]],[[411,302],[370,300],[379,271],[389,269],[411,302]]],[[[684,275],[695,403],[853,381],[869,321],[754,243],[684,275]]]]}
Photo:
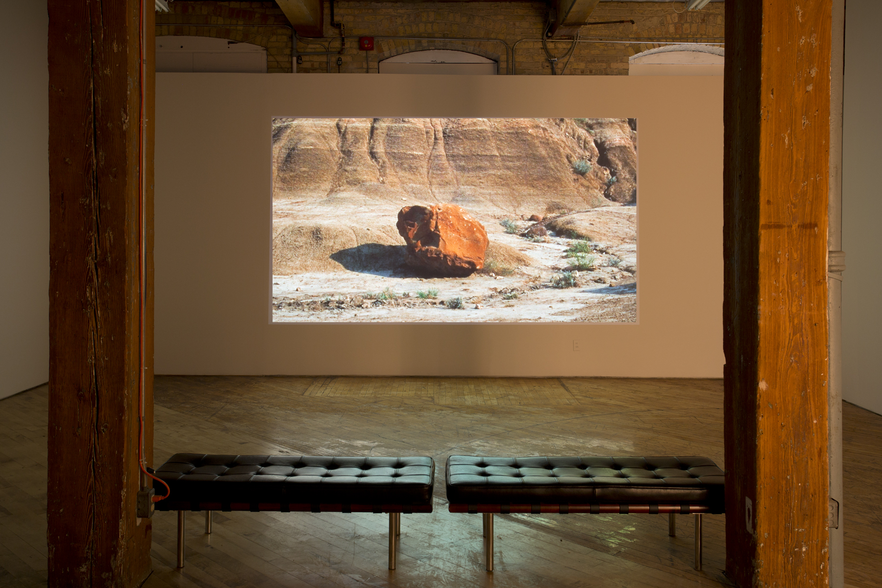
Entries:
{"type": "Polygon", "coordinates": [[[272,316],[636,321],[636,119],[274,118],[272,316]]]}

